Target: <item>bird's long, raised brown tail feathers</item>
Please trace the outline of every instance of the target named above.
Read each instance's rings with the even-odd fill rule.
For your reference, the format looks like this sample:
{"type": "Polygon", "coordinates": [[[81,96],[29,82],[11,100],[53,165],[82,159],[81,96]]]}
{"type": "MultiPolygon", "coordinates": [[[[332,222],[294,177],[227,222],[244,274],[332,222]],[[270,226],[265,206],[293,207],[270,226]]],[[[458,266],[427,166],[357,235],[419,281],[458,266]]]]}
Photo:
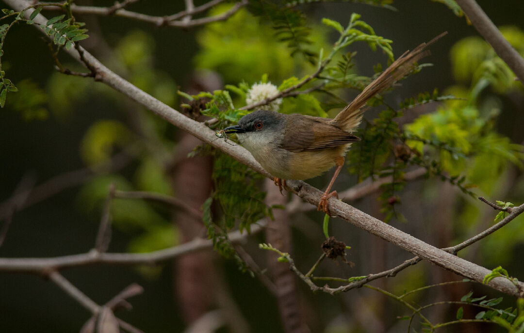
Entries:
{"type": "Polygon", "coordinates": [[[399,81],[402,77],[408,74],[415,67],[415,63],[424,56],[430,54],[429,50],[425,50],[429,45],[433,44],[436,40],[446,35],[447,31],[441,33],[439,36],[433,38],[427,43],[422,43],[413,51],[406,51],[404,54],[399,56],[382,74],[373,80],[362,93],[346,106],[337,116],[333,119],[333,122],[337,124],[341,129],[351,131],[358,126],[361,122],[362,114],[365,111],[365,105],[367,101],[373,98],[375,95],[382,93],[384,90],[389,88],[395,82],[399,81]]]}

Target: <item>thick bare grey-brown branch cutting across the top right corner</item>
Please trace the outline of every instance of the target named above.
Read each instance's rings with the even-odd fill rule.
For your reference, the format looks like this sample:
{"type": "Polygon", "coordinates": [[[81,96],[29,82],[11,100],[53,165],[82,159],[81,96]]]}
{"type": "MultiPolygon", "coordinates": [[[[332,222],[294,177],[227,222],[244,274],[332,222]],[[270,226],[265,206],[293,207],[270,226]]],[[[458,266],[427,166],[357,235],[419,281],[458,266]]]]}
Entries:
{"type": "Polygon", "coordinates": [[[492,20],[484,13],[475,0],[456,0],[467,18],[477,29],[478,33],[492,45],[495,52],[509,68],[517,75],[520,82],[524,82],[524,59],[511,44],[502,36],[492,20]]]}

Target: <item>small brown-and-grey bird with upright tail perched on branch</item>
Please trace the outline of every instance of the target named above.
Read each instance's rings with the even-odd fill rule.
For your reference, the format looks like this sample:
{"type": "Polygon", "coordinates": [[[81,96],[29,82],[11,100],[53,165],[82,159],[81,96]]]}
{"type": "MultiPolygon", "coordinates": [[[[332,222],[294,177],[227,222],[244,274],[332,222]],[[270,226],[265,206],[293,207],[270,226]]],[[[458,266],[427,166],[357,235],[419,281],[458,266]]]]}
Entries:
{"type": "Polygon", "coordinates": [[[334,119],[258,110],[246,114],[238,125],[225,128],[224,133],[236,133],[242,146],[275,177],[280,192],[286,179],[313,178],[336,166],[318,206],[319,211],[329,214],[328,199],[338,199],[336,191],[330,192],[331,187],[344,165],[347,149],[360,140],[352,131],[361,122],[367,102],[412,71],[418,60],[430,54],[425,48],[446,33],[402,54],[334,119]]]}

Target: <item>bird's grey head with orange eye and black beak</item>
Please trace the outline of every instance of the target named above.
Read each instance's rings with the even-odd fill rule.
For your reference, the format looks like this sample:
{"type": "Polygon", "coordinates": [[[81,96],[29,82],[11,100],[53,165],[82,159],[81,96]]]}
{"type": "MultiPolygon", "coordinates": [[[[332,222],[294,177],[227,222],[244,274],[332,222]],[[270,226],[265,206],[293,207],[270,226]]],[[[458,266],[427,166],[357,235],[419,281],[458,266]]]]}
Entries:
{"type": "Polygon", "coordinates": [[[236,133],[241,144],[253,153],[253,149],[279,141],[286,125],[285,117],[285,114],[275,111],[254,111],[242,117],[238,125],[224,129],[224,132],[236,133]]]}

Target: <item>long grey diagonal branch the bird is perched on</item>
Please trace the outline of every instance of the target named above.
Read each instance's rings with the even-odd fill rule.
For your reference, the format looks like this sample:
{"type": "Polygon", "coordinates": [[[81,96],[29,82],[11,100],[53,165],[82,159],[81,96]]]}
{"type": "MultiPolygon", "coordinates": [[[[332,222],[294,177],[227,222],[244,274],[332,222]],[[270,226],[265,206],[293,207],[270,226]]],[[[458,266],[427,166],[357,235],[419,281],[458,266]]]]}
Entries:
{"type": "MultiPolygon", "coordinates": [[[[5,2],[17,10],[24,9],[30,5],[27,0],[5,0],[5,2]]],[[[26,15],[30,15],[31,13],[32,9],[26,11],[26,15]]],[[[45,17],[39,14],[34,19],[34,21],[45,24],[47,20],[45,17]]],[[[38,25],[33,26],[39,28],[38,25]]],[[[216,140],[215,132],[207,128],[203,123],[196,122],[188,117],[183,116],[183,114],[180,112],[170,108],[166,104],[163,104],[161,101],[155,99],[151,95],[145,93],[143,90],[140,90],[136,86],[125,81],[125,79],[122,77],[116,75],[106,66],[104,66],[99,60],[94,58],[94,56],[92,56],[89,52],[85,51],[81,47],[78,47],[78,49],[82,50],[83,59],[89,63],[91,68],[95,70],[95,79],[98,81],[103,82],[117,91],[120,91],[124,95],[137,101],[141,105],[157,114],[157,116],[160,116],[180,129],[191,133],[200,140],[208,142],[211,146],[232,156],[233,158],[239,160],[239,162],[246,164],[255,171],[258,171],[267,177],[273,178],[270,174],[267,173],[267,171],[261,168],[260,164],[256,162],[253,156],[251,156],[247,150],[245,150],[245,148],[238,145],[229,145],[224,140],[216,140]]],[[[76,49],[72,48],[67,52],[73,56],[74,59],[81,61],[80,55],[76,49]]],[[[318,205],[322,196],[322,192],[320,190],[308,185],[303,181],[289,181],[288,188],[302,199],[314,205],[318,205]]],[[[377,220],[374,217],[369,216],[368,214],[359,211],[348,204],[337,201],[335,198],[330,199],[329,205],[330,215],[339,216],[347,222],[350,222],[351,224],[375,236],[383,238],[400,248],[410,251],[418,257],[428,260],[435,265],[441,266],[456,274],[463,275],[478,282],[482,282],[485,275],[491,272],[490,270],[478,266],[475,263],[453,256],[449,252],[424,243],[422,240],[402,232],[399,229],[396,229],[395,227],[392,227],[380,220],[377,220]]],[[[119,262],[118,260],[115,261],[119,262]]],[[[495,278],[491,280],[488,285],[501,292],[517,295],[515,285],[506,279],[495,278]]]]}

